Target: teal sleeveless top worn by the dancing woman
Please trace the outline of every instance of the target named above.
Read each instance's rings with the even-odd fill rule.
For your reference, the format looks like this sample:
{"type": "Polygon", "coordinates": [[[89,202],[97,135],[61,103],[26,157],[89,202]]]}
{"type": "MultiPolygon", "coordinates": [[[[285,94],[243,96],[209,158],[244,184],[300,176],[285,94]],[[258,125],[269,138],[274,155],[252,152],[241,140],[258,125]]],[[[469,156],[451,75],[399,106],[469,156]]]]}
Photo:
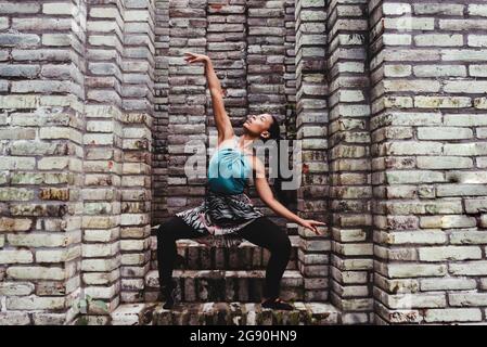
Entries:
{"type": "Polygon", "coordinates": [[[247,155],[236,147],[236,137],[232,146],[218,149],[208,165],[208,185],[222,194],[242,193],[252,174],[247,155]]]}

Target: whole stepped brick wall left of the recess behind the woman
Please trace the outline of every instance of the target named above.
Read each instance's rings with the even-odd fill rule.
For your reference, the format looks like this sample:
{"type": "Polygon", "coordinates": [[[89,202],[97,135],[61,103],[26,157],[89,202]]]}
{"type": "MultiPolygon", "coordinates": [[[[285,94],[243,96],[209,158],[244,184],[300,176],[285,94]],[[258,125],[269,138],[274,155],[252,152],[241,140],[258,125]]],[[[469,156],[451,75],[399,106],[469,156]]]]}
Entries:
{"type": "Polygon", "coordinates": [[[1,323],[108,321],[150,259],[154,3],[3,1],[1,323]]]}

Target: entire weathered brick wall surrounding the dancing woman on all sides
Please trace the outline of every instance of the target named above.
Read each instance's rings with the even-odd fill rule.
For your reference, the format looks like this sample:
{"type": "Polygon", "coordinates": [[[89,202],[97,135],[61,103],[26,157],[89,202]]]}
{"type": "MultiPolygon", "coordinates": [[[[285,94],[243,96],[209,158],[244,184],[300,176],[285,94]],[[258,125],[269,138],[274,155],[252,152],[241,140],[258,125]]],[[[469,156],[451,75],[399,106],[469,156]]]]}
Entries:
{"type": "Polygon", "coordinates": [[[0,324],[153,299],[151,224],[200,204],[184,145],[215,144],[184,51],[214,59],[238,133],[272,112],[302,145],[290,207],[328,222],[297,231],[305,301],[485,323],[486,21],[483,1],[0,1],[0,324]]]}

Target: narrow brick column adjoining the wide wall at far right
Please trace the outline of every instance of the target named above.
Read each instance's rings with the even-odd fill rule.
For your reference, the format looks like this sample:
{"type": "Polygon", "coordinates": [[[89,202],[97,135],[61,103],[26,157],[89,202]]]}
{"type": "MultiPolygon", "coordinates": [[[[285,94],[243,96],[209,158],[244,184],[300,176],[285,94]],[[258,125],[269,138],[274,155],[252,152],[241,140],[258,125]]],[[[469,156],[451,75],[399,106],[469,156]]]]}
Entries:
{"type": "Polygon", "coordinates": [[[344,324],[371,322],[373,309],[367,3],[332,0],[326,10],[330,299],[344,324]]]}

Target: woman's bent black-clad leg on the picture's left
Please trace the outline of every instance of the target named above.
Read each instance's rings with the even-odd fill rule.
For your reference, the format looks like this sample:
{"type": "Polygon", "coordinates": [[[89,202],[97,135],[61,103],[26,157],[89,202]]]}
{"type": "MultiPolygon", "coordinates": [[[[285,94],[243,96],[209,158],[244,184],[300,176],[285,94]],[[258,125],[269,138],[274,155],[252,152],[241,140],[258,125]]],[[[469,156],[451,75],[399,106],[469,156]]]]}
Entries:
{"type": "Polygon", "coordinates": [[[172,269],[178,255],[176,240],[194,239],[202,234],[174,216],[157,229],[157,270],[161,288],[171,284],[172,269]]]}

